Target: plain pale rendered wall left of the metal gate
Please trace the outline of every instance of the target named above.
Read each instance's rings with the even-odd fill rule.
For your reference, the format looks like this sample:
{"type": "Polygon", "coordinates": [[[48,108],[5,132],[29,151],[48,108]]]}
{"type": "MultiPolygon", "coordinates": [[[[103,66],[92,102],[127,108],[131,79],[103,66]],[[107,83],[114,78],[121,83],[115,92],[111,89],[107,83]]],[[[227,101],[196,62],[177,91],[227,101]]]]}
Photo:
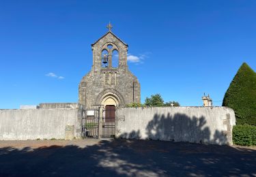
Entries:
{"type": "Polygon", "coordinates": [[[67,125],[81,138],[79,109],[0,110],[0,140],[65,139],[67,125]]]}

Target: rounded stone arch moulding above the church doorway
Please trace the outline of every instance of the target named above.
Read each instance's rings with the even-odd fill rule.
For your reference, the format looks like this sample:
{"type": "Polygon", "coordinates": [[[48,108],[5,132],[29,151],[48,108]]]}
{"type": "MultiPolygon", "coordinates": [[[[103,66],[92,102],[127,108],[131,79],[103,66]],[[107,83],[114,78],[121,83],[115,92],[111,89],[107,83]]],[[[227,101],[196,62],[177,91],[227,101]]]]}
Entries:
{"type": "Polygon", "coordinates": [[[124,105],[124,98],[119,92],[115,91],[115,89],[106,89],[105,91],[102,91],[98,95],[95,105],[96,106],[98,106],[99,104],[102,105],[102,103],[104,103],[104,101],[106,101],[106,99],[108,98],[114,99],[115,102],[117,103],[116,106],[124,105]]]}

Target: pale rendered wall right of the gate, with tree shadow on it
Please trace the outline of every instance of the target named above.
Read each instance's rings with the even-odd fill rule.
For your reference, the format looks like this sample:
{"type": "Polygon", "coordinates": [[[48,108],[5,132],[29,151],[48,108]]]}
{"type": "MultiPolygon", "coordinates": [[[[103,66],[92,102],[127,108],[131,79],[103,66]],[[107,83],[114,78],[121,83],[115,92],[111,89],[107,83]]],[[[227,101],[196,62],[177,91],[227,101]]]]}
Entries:
{"type": "Polygon", "coordinates": [[[235,114],[226,107],[117,108],[116,138],[232,144],[235,114]]]}

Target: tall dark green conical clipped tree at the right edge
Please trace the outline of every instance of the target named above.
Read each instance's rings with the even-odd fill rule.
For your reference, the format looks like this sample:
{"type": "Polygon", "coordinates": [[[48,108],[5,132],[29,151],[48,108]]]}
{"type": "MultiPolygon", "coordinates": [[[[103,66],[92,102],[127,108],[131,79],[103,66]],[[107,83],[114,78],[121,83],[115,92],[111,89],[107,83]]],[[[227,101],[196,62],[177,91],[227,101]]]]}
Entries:
{"type": "Polygon", "coordinates": [[[256,73],[246,63],[229,85],[223,106],[235,111],[237,124],[256,125],[256,73]]]}

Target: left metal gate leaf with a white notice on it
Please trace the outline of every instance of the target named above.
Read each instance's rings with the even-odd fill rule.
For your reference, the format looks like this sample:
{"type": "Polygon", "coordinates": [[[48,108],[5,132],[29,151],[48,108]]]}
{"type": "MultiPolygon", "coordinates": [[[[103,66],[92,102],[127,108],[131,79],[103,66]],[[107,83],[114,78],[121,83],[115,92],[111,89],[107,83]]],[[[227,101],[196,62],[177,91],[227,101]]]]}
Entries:
{"type": "Polygon", "coordinates": [[[98,109],[83,110],[82,137],[98,138],[100,114],[98,109]]]}

